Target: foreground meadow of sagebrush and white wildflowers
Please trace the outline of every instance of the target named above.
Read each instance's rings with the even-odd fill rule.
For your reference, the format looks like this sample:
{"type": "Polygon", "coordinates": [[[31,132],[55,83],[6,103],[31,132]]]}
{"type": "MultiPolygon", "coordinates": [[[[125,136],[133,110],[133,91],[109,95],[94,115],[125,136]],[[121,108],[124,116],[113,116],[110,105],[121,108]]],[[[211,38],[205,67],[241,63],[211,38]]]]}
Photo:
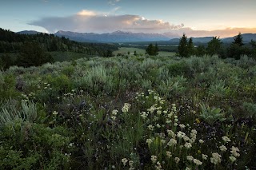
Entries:
{"type": "Polygon", "coordinates": [[[0,169],[256,168],[250,57],[11,66],[0,97],[0,169]]]}

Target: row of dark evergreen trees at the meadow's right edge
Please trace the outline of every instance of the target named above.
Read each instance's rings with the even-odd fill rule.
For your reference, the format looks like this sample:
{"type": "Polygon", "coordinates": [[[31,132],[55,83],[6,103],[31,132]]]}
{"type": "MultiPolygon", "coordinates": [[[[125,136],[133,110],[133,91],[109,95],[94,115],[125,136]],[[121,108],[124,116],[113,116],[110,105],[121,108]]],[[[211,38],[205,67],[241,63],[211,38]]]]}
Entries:
{"type": "Polygon", "coordinates": [[[239,33],[230,45],[223,45],[219,38],[214,37],[206,46],[198,45],[198,47],[195,47],[192,38],[187,38],[186,34],[183,34],[182,38],[180,38],[176,54],[180,57],[190,57],[193,55],[200,57],[205,54],[213,56],[216,54],[222,58],[231,57],[238,60],[242,55],[256,57],[256,42],[251,40],[250,45],[245,45],[242,42],[242,35],[239,33]]]}

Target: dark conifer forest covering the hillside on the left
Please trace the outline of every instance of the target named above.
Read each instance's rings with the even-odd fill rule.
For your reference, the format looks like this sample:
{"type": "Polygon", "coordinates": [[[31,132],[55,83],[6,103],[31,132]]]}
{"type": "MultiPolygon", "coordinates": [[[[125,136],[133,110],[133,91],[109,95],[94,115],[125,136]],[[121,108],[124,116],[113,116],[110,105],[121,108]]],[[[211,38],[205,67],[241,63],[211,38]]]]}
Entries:
{"type": "MultiPolygon", "coordinates": [[[[103,43],[82,43],[70,41],[68,38],[58,38],[54,34],[17,34],[10,30],[3,30],[0,28],[0,53],[5,53],[0,57],[0,67],[6,69],[10,65],[32,66],[32,61],[22,61],[22,55],[26,55],[28,60],[33,58],[33,53],[37,53],[38,57],[46,55],[47,58],[34,58],[34,61],[42,61],[42,63],[35,64],[35,66],[42,65],[46,61],[52,61],[50,53],[53,51],[69,51],[75,53],[85,53],[87,55],[97,55],[101,57],[110,57],[112,52],[117,50],[116,45],[103,43]],[[40,53],[39,53],[40,52],[40,53]],[[10,53],[18,53],[18,57],[11,61],[10,53]],[[29,62],[29,63],[27,63],[29,62]]],[[[25,58],[26,60],[26,58],[25,58]]]]}

